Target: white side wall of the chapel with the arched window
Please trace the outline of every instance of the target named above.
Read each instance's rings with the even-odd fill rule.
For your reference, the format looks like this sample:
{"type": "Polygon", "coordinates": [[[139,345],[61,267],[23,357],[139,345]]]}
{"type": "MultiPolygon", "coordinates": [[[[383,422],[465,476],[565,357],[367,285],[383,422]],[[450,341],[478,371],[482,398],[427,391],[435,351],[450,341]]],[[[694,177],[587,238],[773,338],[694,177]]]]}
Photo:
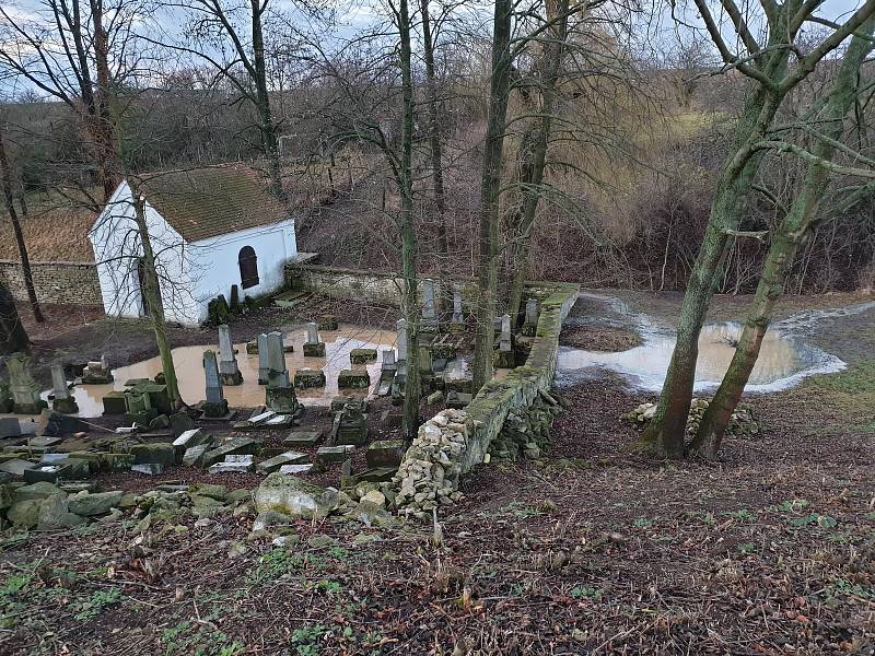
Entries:
{"type": "Polygon", "coordinates": [[[194,242],[188,247],[188,277],[197,301],[198,321],[207,318],[207,304],[219,294],[230,300],[231,285],[240,288],[241,300],[270,293],[284,283],[285,261],[298,255],[294,220],[261,225],[240,232],[194,242]],[[252,246],[258,258],[258,284],[243,289],[238,256],[252,246]]]}

